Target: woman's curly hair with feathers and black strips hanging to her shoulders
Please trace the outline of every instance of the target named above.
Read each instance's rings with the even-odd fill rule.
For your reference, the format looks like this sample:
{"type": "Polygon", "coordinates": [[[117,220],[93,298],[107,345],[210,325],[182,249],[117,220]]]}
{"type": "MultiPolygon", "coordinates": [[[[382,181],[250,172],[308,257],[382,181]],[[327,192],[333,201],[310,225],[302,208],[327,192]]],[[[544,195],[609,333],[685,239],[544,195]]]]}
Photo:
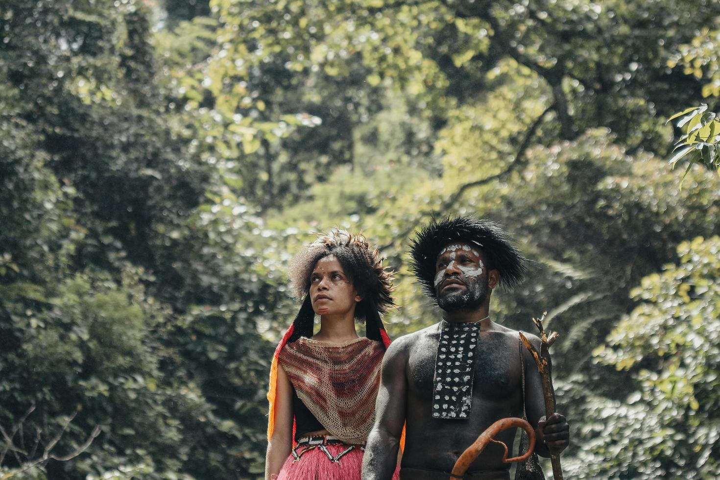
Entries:
{"type": "Polygon", "coordinates": [[[312,311],[310,297],[310,276],[315,264],[321,258],[333,256],[338,259],[346,276],[360,295],[361,301],[355,307],[355,317],[366,322],[368,338],[380,340],[377,328],[382,327],[380,314],[394,305],[392,300],[392,271],[382,265],[383,257],[377,249],[371,248],[362,235],[352,235],[346,230],[332,230],[318,235],[318,239],[305,245],[292,261],[288,278],[292,282],[293,293],[302,299],[295,325],[296,332],[289,341],[300,336],[312,335],[312,311]],[[375,338],[377,336],[377,338],[375,338]]]}

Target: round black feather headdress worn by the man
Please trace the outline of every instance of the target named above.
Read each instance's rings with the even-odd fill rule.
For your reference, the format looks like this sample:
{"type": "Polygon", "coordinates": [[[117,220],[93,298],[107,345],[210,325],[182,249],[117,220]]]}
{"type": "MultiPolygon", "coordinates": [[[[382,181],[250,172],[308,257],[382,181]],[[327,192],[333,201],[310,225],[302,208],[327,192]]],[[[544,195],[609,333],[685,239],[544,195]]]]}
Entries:
{"type": "Polygon", "coordinates": [[[526,258],[515,246],[515,240],[498,223],[485,219],[468,217],[433,219],[426,225],[410,246],[413,258],[410,268],[425,293],[436,298],[436,259],[440,250],[452,242],[478,245],[485,256],[487,269],[500,272],[500,285],[505,290],[513,289],[523,281],[526,258]]]}

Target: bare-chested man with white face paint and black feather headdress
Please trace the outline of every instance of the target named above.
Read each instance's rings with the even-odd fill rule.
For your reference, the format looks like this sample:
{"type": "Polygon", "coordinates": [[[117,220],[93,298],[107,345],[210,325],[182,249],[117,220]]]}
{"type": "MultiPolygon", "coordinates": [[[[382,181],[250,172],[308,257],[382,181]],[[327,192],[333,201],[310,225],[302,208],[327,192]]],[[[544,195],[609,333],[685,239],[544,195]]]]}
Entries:
{"type": "MultiPolygon", "coordinates": [[[[519,347],[518,332],[490,318],[492,290],[515,286],[525,273],[512,238],[485,220],[433,220],[411,254],[415,276],[443,320],[387,349],[362,478],[390,479],[405,424],[400,479],[448,479],[457,458],[487,427],[523,416],[523,397],[536,428],[535,451],[547,457],[564,450],[569,427],[557,413],[544,418],[541,378],[530,353],[519,347]]],[[[539,338],[526,336],[539,350],[539,338]]],[[[514,437],[506,430],[497,439],[513,445],[514,437]]],[[[464,479],[508,480],[510,465],[502,456],[503,448],[490,443],[464,479]]]]}

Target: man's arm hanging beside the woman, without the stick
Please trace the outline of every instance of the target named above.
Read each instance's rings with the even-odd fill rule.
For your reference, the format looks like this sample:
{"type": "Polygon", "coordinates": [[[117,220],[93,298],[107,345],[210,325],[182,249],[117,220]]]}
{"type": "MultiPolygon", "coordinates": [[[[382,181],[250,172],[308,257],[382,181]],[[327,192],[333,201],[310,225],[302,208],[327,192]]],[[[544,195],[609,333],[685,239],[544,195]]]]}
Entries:
{"type": "Polygon", "coordinates": [[[380,387],[375,403],[375,425],[370,430],[362,462],[363,480],[390,480],[397,465],[400,435],[405,425],[408,352],[403,338],[387,348],[382,359],[380,387]]]}

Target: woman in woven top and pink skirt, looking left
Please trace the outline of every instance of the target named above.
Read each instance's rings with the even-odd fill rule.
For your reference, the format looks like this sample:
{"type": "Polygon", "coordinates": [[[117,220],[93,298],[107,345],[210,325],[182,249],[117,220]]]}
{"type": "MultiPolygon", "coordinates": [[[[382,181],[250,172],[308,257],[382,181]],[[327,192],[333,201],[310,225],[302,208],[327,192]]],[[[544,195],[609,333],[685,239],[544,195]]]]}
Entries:
{"type": "Polygon", "coordinates": [[[267,480],[360,479],[390,344],[380,314],[393,304],[391,276],[364,237],[343,230],[320,235],[294,259],[289,278],[302,307],[270,370],[267,480]]]}

